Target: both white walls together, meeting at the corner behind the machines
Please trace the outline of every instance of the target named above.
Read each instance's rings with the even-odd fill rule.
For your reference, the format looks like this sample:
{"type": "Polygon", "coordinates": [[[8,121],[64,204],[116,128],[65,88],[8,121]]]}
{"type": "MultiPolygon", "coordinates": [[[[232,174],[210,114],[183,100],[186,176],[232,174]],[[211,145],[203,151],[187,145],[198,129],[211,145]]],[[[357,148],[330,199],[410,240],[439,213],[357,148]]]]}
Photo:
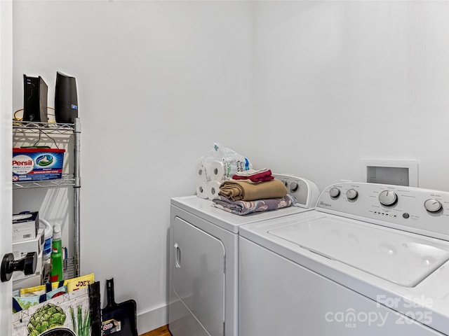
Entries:
{"type": "MultiPolygon", "coordinates": [[[[165,323],[169,200],[219,141],[322,189],[359,158],[420,162],[449,190],[449,3],[14,1],[22,74],[76,76],[81,272],[165,323]],[[32,31],[32,34],[30,33],[32,31]]],[[[52,91],[53,90],[53,91],[52,91]]],[[[15,200],[18,201],[18,200],[15,200]]]]}

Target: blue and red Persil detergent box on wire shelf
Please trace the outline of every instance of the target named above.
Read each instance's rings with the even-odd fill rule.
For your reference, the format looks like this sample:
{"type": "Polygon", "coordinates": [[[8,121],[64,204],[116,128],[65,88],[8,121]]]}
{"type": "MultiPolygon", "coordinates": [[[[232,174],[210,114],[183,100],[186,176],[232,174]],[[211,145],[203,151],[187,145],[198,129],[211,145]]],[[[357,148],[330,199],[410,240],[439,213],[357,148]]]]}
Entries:
{"type": "Polygon", "coordinates": [[[13,182],[60,179],[64,149],[13,148],[13,182]]]}

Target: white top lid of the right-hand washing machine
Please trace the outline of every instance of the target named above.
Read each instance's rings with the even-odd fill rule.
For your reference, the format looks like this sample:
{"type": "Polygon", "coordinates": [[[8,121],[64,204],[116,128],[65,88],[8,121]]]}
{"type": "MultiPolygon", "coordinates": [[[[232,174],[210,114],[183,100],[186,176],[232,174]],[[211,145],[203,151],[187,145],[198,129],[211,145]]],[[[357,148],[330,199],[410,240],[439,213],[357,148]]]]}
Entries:
{"type": "Polygon", "coordinates": [[[448,250],[426,239],[347,219],[311,218],[268,233],[406,287],[416,286],[449,260],[448,250]]]}

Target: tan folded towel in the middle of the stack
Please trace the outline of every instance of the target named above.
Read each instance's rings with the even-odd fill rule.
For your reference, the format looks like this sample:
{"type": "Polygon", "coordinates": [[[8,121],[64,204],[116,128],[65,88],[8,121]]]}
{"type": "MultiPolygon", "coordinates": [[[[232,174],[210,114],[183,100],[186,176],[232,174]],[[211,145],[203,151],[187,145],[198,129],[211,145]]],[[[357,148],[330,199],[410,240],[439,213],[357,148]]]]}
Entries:
{"type": "Polygon", "coordinates": [[[251,183],[246,180],[228,180],[220,185],[219,195],[233,201],[254,201],[267,198],[281,198],[287,195],[288,190],[282,181],[272,179],[270,181],[251,183]]]}

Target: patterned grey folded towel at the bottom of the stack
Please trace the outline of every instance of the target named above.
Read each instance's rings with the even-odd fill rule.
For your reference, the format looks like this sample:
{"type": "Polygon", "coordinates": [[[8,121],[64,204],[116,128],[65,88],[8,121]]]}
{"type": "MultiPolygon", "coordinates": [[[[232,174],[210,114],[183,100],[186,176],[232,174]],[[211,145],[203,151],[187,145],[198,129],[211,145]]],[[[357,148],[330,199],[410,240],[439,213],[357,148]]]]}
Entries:
{"type": "Polygon", "coordinates": [[[232,201],[226,197],[218,196],[213,201],[213,207],[228,211],[236,215],[247,215],[255,212],[270,211],[290,207],[295,204],[295,198],[285,195],[282,198],[269,198],[255,201],[232,201]]]}

